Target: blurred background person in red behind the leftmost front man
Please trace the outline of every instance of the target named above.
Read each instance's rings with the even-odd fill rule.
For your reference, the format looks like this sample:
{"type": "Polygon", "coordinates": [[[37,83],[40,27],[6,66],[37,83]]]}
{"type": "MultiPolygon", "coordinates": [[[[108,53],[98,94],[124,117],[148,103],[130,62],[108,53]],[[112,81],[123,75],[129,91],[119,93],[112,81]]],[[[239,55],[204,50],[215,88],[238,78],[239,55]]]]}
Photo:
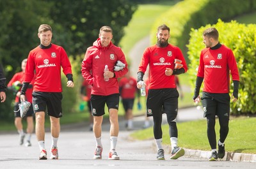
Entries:
{"type": "Polygon", "coordinates": [[[26,113],[26,118],[27,121],[27,128],[26,128],[26,134],[23,131],[23,125],[22,125],[22,118],[20,117],[20,111],[19,111],[19,103],[20,103],[20,89],[22,87],[22,82],[24,80],[24,75],[25,75],[25,70],[26,70],[26,64],[27,64],[28,59],[24,59],[21,62],[21,69],[19,73],[15,73],[13,75],[12,79],[8,83],[7,87],[8,89],[12,90],[16,96],[15,98],[15,106],[14,106],[14,115],[15,115],[15,127],[19,133],[19,143],[22,145],[24,143],[24,138],[26,136],[26,143],[25,146],[29,147],[31,146],[31,135],[33,133],[34,129],[34,111],[33,111],[33,106],[32,106],[32,91],[33,91],[33,81],[31,84],[28,86],[28,90],[26,91],[26,99],[31,103],[31,106],[29,107],[28,112],[26,113]]]}

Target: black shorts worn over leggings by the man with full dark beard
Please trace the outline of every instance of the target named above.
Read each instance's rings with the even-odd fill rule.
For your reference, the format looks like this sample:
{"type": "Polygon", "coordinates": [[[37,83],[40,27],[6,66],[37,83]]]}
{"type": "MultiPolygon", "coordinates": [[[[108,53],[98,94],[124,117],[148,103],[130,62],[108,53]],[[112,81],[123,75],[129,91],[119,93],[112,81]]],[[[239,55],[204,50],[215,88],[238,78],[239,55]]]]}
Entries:
{"type": "Polygon", "coordinates": [[[179,92],[171,89],[149,89],[147,97],[147,117],[163,113],[177,116],[179,92]]]}

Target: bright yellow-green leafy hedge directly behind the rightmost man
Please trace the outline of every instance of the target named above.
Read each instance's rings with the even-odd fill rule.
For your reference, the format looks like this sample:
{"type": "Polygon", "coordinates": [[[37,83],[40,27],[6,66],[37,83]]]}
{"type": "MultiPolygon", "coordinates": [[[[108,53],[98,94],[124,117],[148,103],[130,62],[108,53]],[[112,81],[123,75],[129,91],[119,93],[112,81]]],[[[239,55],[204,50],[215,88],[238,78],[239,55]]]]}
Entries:
{"type": "MultiPolygon", "coordinates": [[[[196,69],[199,64],[200,52],[205,48],[204,43],[202,43],[202,33],[209,27],[216,27],[216,29],[218,29],[220,42],[233,50],[239,68],[239,99],[236,103],[231,103],[231,114],[256,114],[255,24],[245,25],[239,24],[236,21],[225,23],[219,20],[215,25],[207,25],[205,27],[200,27],[200,29],[192,29],[188,45],[188,55],[190,60],[188,73],[193,87],[195,87],[196,69]]],[[[203,87],[201,87],[201,90],[202,88],[203,87]]],[[[232,83],[230,89],[230,94],[232,94],[232,83]]]]}

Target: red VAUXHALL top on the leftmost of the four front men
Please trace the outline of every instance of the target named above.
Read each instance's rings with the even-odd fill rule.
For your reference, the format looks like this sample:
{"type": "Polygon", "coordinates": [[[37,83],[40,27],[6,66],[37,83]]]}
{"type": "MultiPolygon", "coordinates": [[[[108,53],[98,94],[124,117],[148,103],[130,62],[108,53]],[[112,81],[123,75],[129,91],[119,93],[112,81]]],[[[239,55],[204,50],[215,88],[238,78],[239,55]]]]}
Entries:
{"type": "Polygon", "coordinates": [[[31,82],[35,72],[33,91],[62,92],[61,67],[65,75],[72,74],[71,64],[63,47],[34,48],[29,52],[24,82],[31,82]]]}

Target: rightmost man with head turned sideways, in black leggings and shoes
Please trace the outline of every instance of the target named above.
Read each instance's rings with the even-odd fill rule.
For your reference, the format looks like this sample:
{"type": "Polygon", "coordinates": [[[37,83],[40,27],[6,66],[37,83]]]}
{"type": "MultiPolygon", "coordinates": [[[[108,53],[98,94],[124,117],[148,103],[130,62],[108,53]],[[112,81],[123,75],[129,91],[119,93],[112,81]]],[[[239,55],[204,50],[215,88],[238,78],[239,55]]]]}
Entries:
{"type": "Polygon", "coordinates": [[[196,77],[195,94],[193,99],[202,99],[204,117],[207,119],[207,136],[212,149],[209,161],[216,161],[225,156],[225,139],[228,135],[228,121],[230,113],[230,73],[234,83],[232,101],[238,99],[239,73],[236,59],[230,48],[221,45],[219,33],[211,27],[203,33],[205,47],[200,54],[200,63],[196,77]],[[200,87],[204,80],[202,98],[199,96],[200,87]],[[220,140],[218,152],[216,149],[215,117],[220,122],[220,140]]]}

